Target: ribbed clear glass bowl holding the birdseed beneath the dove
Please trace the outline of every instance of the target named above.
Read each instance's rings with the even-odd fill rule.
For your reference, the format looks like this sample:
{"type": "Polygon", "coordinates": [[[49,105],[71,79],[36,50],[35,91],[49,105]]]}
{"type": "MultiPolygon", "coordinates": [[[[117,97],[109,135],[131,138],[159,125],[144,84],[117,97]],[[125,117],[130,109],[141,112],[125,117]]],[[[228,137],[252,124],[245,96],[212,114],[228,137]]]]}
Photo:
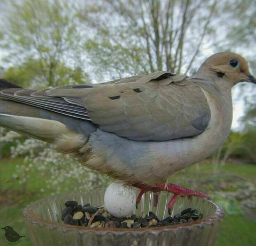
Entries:
{"type": "MultiPolygon", "coordinates": [[[[23,212],[33,245],[38,246],[141,246],[141,245],[213,245],[224,219],[223,209],[208,199],[201,197],[180,197],[172,215],[183,209],[197,209],[203,219],[180,225],[140,229],[87,228],[65,225],[61,220],[64,203],[76,200],[82,206],[104,204],[105,189],[71,192],[47,197],[26,206],[23,212]]],[[[133,213],[153,211],[158,218],[168,217],[167,204],[172,194],[167,192],[147,192],[142,196],[138,209],[133,213]]]]}

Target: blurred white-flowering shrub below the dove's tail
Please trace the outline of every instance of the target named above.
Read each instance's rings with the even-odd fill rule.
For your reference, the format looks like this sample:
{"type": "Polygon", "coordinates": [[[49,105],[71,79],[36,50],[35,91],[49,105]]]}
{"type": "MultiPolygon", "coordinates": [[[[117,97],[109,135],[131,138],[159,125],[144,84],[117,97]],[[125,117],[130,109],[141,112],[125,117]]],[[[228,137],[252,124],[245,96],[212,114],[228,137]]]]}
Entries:
{"type": "MultiPolygon", "coordinates": [[[[52,194],[76,190],[106,187],[110,179],[90,171],[68,155],[57,153],[48,143],[24,138],[13,131],[0,128],[0,143],[14,142],[11,147],[12,158],[24,157],[23,164],[16,165],[13,178],[19,183],[28,182],[31,173],[45,178],[45,189],[55,190],[52,194]]],[[[45,192],[44,188],[40,192],[45,192]]]]}

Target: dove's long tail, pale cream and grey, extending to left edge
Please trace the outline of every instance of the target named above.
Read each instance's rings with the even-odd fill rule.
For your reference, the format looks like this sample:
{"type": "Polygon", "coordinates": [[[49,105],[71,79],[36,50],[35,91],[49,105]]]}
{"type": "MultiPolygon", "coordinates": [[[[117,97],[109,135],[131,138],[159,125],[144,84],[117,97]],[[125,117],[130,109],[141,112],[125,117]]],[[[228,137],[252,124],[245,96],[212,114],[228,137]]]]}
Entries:
{"type": "MultiPolygon", "coordinates": [[[[0,79],[0,91],[12,88],[21,87],[0,79]]],[[[32,138],[55,143],[60,152],[74,152],[83,146],[89,134],[95,131],[95,126],[90,122],[2,99],[0,126],[32,138]]]]}

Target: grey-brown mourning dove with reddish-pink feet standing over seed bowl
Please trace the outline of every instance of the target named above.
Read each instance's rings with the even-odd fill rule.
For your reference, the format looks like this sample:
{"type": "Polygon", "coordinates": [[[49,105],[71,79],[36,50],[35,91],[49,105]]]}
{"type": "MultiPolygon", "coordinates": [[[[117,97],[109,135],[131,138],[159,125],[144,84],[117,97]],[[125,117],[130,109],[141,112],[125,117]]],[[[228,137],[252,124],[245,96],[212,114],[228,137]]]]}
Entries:
{"type": "Polygon", "coordinates": [[[55,145],[83,165],[140,189],[208,196],[167,183],[215,152],[230,133],[232,87],[252,82],[232,52],[207,58],[194,75],[157,71],[106,83],[24,89],[0,80],[0,126],[55,145]]]}

